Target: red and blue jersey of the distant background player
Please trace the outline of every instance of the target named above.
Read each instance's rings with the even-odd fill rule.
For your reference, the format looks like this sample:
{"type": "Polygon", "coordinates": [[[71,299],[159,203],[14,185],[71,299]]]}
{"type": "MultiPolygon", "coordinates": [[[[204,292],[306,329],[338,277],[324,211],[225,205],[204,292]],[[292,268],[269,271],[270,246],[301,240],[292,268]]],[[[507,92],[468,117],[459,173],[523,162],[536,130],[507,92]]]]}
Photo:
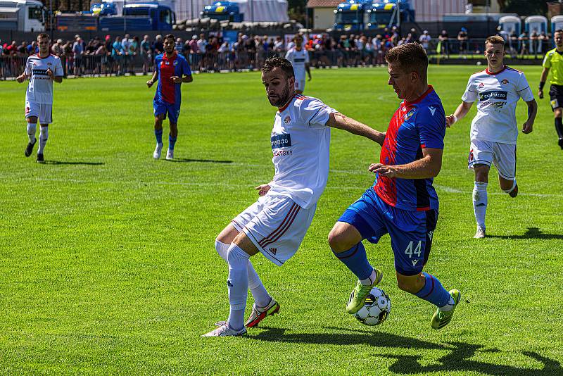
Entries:
{"type": "Polygon", "coordinates": [[[180,90],[182,84],[175,84],[170,77],[191,75],[186,58],[178,55],[176,51],[174,51],[172,58],[167,58],[166,54],[159,54],[154,58],[154,69],[158,73],[158,85],[154,94],[155,101],[179,104],[182,100],[182,91],[180,90]]]}

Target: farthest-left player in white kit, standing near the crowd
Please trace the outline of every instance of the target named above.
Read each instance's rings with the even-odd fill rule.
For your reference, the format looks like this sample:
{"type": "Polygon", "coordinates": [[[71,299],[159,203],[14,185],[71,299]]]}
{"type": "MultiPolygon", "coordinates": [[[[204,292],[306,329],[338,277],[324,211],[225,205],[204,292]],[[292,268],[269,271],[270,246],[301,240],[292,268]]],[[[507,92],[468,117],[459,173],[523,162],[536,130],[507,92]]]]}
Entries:
{"type": "Polygon", "coordinates": [[[39,148],[37,162],[44,161],[43,151],[49,138],[49,124],[52,123],[53,113],[53,81],[63,82],[63,65],[58,56],[49,54],[49,35],[40,34],[37,37],[39,53],[27,58],[25,71],[16,80],[24,82],[30,80],[25,92],[25,119],[27,120],[27,136],[29,142],[25,148],[25,156],[30,156],[33,146],[37,143],[35,132],[39,120],[39,148]]]}

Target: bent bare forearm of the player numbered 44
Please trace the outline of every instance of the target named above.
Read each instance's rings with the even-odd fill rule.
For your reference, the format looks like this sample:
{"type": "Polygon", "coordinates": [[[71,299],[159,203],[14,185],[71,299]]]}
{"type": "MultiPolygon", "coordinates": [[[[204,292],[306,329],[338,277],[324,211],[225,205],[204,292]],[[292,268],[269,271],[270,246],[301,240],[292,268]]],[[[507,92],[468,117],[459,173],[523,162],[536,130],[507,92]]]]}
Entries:
{"type": "Polygon", "coordinates": [[[424,148],[422,158],[405,165],[372,163],[367,168],[372,173],[398,179],[430,179],[438,176],[442,168],[442,149],[424,148]]]}

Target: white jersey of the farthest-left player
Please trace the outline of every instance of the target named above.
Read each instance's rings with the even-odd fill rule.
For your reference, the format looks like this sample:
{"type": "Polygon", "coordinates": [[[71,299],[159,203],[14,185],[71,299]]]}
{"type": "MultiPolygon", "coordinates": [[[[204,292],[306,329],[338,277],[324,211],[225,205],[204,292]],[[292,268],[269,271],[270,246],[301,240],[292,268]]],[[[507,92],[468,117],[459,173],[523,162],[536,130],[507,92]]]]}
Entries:
{"type": "Polygon", "coordinates": [[[47,69],[53,71],[55,76],[63,76],[63,65],[58,56],[49,55],[40,58],[38,54],[27,58],[25,75],[30,76],[27,84],[25,101],[37,104],[53,104],[53,80],[47,75],[47,69]]]}

